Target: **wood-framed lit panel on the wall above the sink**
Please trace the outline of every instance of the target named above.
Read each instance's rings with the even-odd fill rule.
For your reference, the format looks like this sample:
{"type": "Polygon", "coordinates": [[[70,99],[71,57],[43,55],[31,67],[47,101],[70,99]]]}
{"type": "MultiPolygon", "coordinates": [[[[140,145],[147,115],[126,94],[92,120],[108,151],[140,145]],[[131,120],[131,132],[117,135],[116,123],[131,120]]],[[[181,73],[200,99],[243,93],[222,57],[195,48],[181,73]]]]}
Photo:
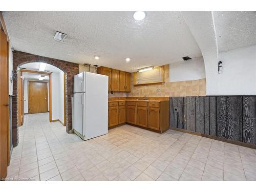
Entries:
{"type": "Polygon", "coordinates": [[[150,71],[134,73],[134,86],[164,83],[164,66],[154,67],[150,71]]]}

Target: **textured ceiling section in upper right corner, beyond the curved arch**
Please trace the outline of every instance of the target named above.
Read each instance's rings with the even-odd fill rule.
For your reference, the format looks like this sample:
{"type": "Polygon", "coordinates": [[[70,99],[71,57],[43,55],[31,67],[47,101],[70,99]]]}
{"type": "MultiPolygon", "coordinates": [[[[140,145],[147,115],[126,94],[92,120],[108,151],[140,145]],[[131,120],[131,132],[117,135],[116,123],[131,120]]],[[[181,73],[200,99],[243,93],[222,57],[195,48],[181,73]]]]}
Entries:
{"type": "Polygon", "coordinates": [[[214,12],[219,52],[256,44],[256,11],[214,12]]]}

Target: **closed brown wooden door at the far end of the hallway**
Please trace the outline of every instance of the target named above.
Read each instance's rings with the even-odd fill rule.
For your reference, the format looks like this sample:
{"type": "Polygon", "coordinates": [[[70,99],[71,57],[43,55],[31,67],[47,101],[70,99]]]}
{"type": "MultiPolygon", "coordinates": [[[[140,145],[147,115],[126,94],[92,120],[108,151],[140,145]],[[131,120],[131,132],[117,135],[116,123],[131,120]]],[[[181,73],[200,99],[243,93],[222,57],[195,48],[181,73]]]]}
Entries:
{"type": "Polygon", "coordinates": [[[29,81],[29,113],[48,112],[47,82],[29,81]]]}

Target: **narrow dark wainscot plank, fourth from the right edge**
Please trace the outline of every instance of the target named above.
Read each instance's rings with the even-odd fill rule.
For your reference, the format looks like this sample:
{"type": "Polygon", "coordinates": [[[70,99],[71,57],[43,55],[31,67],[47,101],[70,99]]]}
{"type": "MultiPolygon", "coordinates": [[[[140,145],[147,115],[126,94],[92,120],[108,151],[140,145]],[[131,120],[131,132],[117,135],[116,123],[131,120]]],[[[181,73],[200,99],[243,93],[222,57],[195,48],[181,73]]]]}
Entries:
{"type": "Polygon", "coordinates": [[[216,136],[216,97],[209,97],[209,133],[216,136]]]}

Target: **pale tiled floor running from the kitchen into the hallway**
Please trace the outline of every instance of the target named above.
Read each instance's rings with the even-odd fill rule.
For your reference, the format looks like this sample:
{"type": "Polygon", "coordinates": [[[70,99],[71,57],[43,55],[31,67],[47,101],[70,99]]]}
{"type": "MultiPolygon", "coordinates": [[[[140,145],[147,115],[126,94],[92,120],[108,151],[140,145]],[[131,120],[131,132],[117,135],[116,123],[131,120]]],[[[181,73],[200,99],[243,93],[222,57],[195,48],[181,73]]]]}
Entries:
{"type": "Polygon", "coordinates": [[[7,178],[36,181],[256,180],[256,150],[123,125],[82,141],[48,113],[25,116],[7,178]],[[27,179],[26,179],[27,178],[27,179]]]}

